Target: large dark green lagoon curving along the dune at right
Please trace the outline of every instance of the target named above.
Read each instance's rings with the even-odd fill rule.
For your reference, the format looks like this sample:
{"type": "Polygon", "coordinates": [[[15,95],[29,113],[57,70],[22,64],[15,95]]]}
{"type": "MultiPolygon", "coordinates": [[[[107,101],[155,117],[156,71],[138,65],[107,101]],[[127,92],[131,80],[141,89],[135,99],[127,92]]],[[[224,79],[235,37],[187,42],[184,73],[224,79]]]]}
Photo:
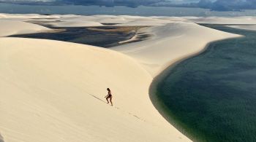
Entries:
{"type": "Polygon", "coordinates": [[[254,142],[256,31],[205,26],[245,37],[214,42],[167,69],[156,86],[158,106],[192,141],[254,142]]]}

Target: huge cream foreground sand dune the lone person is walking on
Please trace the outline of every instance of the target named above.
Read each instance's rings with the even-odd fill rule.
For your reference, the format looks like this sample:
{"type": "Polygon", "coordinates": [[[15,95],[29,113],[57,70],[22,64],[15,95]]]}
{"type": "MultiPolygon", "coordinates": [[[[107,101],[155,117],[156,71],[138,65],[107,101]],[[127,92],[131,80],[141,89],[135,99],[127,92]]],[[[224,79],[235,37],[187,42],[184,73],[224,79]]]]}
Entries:
{"type": "Polygon", "coordinates": [[[0,43],[5,141],[189,141],[154,109],[151,76],[126,55],[43,39],[0,43]]]}

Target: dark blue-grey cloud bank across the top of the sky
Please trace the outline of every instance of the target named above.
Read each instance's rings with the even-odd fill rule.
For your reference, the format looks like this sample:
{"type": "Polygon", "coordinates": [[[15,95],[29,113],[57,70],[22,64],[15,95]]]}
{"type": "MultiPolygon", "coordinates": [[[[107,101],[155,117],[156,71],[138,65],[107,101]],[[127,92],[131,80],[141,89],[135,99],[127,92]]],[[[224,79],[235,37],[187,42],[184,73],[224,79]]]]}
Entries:
{"type": "Polygon", "coordinates": [[[218,12],[239,12],[256,9],[256,0],[0,0],[1,4],[31,6],[124,6],[136,7],[187,7],[210,9],[218,12]]]}

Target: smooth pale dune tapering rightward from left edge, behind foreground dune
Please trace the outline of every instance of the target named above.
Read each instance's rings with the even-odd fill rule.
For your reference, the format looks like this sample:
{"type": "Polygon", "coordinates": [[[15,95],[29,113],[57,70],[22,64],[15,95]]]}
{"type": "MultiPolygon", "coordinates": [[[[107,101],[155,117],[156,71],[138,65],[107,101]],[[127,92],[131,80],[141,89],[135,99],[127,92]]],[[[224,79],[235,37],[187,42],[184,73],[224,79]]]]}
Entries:
{"type": "Polygon", "coordinates": [[[1,20],[0,19],[0,37],[10,36],[12,34],[37,33],[42,31],[51,31],[41,25],[26,23],[17,20],[1,20]]]}

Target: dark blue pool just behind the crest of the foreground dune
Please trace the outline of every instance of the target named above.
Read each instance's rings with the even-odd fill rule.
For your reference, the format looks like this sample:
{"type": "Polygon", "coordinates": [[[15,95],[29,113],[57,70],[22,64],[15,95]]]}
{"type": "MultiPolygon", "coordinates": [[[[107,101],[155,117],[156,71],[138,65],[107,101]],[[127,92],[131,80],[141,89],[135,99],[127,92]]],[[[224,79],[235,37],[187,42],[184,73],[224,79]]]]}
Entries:
{"type": "MultiPolygon", "coordinates": [[[[97,27],[95,27],[97,28],[97,27]]],[[[113,29],[116,27],[105,27],[113,29]]],[[[114,47],[118,45],[118,42],[131,39],[135,35],[134,31],[122,32],[122,31],[95,31],[85,27],[64,27],[54,28],[60,30],[59,32],[48,33],[29,33],[12,35],[10,37],[23,37],[33,39],[52,39],[64,42],[75,42],[79,44],[89,44],[99,47],[114,47]]]]}

